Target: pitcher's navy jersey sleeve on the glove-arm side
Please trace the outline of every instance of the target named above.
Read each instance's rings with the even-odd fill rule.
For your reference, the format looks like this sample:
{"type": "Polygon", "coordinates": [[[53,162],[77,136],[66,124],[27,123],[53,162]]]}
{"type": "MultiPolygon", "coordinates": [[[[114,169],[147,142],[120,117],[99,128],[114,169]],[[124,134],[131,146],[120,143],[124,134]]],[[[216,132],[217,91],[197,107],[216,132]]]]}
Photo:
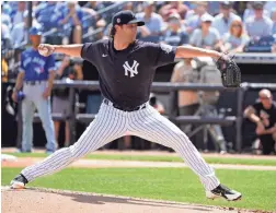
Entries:
{"type": "Polygon", "coordinates": [[[148,55],[153,67],[161,67],[174,62],[176,47],[166,44],[148,43],[148,55]]]}

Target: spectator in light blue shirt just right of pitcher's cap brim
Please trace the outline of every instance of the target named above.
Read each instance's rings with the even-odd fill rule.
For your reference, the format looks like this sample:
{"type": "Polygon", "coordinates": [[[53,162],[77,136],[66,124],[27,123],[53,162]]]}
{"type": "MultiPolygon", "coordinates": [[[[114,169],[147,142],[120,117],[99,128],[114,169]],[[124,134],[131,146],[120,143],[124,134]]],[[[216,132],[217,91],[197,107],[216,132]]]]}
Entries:
{"type": "Polygon", "coordinates": [[[164,23],[161,15],[154,12],[153,2],[145,2],[143,12],[138,13],[136,17],[146,23],[145,26],[139,27],[139,39],[159,43],[164,23]]]}

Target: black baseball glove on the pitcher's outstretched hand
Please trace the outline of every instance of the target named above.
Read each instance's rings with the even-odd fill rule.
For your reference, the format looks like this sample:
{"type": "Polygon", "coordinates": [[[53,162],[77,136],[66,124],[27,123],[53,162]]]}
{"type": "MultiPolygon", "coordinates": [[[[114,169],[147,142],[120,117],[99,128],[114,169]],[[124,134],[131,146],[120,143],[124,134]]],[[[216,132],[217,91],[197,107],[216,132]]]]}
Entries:
{"type": "Polygon", "coordinates": [[[218,70],[221,72],[222,85],[225,87],[240,87],[241,70],[233,61],[233,57],[227,55],[216,61],[218,70]]]}

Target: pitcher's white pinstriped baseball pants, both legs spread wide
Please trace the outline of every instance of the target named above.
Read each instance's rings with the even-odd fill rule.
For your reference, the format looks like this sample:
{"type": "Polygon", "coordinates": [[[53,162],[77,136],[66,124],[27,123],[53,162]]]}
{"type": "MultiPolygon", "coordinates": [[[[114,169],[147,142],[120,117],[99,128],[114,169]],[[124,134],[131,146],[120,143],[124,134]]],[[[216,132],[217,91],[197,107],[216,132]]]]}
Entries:
{"type": "Polygon", "coordinates": [[[127,113],[103,103],[96,118],[73,145],[56,151],[44,161],[24,168],[21,174],[28,181],[54,174],[130,132],[133,135],[172,147],[199,177],[206,190],[215,189],[219,180],[214,169],[204,161],[186,134],[148,103],[146,106],[143,109],[127,113]]]}

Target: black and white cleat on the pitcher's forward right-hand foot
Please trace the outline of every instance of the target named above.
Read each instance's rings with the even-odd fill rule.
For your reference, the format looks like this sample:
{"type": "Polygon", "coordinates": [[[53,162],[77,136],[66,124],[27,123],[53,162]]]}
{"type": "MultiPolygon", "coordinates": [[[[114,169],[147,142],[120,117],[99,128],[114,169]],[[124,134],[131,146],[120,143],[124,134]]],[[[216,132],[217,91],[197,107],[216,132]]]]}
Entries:
{"type": "Polygon", "coordinates": [[[216,198],[225,198],[228,201],[237,201],[241,199],[242,194],[225,187],[223,185],[219,185],[216,189],[206,191],[206,197],[212,200],[216,198]]]}

